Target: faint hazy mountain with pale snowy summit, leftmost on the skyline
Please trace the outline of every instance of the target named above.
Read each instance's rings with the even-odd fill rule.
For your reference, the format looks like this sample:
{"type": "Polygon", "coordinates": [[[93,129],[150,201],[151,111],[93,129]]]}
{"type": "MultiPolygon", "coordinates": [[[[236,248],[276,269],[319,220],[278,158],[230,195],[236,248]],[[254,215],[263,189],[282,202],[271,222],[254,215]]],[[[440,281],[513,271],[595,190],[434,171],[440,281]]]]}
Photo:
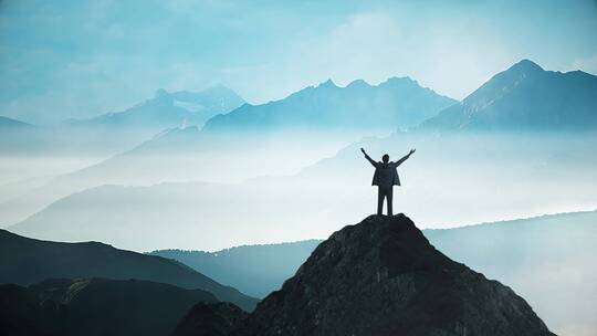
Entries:
{"type": "Polygon", "coordinates": [[[156,95],[122,112],[53,126],[0,117],[0,154],[7,155],[114,155],[128,150],[170,128],[199,126],[210,117],[244,104],[232,90],[214,86],[201,92],[158,90],[156,95]],[[6,132],[10,128],[10,133],[6,132]]]}

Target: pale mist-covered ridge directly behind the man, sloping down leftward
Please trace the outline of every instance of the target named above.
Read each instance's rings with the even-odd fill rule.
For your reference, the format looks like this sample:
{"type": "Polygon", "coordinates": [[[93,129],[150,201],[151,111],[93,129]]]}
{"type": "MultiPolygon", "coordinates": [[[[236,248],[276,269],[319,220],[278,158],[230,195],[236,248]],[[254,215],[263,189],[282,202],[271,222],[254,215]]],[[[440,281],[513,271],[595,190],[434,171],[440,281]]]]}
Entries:
{"type": "MultiPolygon", "coordinates": [[[[426,223],[452,227],[533,216],[537,212],[528,209],[568,209],[570,200],[594,204],[596,144],[597,138],[586,137],[467,136],[431,141],[397,136],[354,144],[293,176],[239,183],[180,181],[83,188],[55,201],[46,199],[49,206],[9,228],[38,239],[97,240],[142,252],[169,248],[217,251],[251,242],[324,238],[338,222],[375,210],[373,167],[363,158],[359,146],[378,158],[385,149],[397,158],[410,146],[418,148],[399,168],[402,186],[396,190],[396,209],[409,211],[426,223]]],[[[218,158],[205,160],[205,165],[230,178],[228,169],[245,170],[253,164],[243,155],[239,151],[228,165],[218,158]]],[[[166,161],[164,168],[188,169],[190,159],[181,159],[180,167],[178,161],[166,161]]],[[[272,160],[285,164],[284,157],[273,156],[263,161],[272,165],[272,160]]],[[[137,167],[129,174],[160,168],[157,164],[137,167]]],[[[63,186],[76,186],[78,177],[64,180],[63,186]]],[[[25,202],[33,197],[21,198],[25,202]]],[[[10,213],[18,204],[6,202],[0,209],[10,213]]]]}

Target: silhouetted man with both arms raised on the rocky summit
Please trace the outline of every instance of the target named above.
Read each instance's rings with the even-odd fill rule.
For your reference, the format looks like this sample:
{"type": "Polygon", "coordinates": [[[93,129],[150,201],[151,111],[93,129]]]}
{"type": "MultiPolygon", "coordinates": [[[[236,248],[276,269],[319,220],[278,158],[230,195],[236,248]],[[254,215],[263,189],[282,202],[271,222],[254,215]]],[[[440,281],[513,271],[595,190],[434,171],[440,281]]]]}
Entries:
{"type": "Polygon", "coordinates": [[[367,155],[365,149],[360,148],[360,151],[365,155],[365,158],[371,162],[375,167],[374,179],[371,186],[377,186],[377,214],[381,214],[384,210],[384,199],[388,200],[388,216],[391,213],[391,199],[394,195],[394,186],[400,186],[400,178],[396,168],[406,161],[416,149],[410,149],[410,153],[396,162],[390,162],[389,155],[384,154],[381,162],[375,161],[367,155]]]}

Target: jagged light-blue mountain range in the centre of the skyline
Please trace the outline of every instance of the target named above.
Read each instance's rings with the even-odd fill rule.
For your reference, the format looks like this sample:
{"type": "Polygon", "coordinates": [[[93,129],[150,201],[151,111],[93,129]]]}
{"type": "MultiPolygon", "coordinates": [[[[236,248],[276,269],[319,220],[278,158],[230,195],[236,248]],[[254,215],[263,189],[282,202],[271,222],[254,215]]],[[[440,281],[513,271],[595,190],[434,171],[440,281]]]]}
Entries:
{"type": "Polygon", "coordinates": [[[409,77],[391,77],[379,85],[358,80],[346,87],[327,81],[280,101],[244,104],[213,116],[203,127],[165,132],[127,155],[252,150],[296,136],[310,143],[308,138],[332,140],[339,135],[346,144],[418,125],[457,103],[409,77]]]}

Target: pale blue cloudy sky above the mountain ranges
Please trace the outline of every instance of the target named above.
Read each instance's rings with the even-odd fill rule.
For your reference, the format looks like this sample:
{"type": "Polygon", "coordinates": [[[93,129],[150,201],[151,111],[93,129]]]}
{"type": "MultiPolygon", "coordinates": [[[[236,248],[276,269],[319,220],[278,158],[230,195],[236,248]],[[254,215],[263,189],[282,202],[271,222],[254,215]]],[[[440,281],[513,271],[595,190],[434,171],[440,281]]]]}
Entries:
{"type": "Polygon", "coordinates": [[[34,124],[216,84],[260,104],[410,76],[461,99],[521,59],[597,74],[597,1],[0,0],[0,115],[34,124]]]}

